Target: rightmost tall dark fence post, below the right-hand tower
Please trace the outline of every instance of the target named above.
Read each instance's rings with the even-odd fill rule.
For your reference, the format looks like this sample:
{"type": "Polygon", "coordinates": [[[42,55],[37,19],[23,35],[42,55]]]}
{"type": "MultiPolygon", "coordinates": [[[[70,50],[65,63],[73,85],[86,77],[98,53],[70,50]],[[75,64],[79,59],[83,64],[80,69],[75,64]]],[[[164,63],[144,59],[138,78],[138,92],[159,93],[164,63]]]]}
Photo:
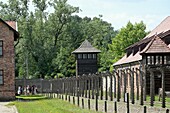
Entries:
{"type": "Polygon", "coordinates": [[[165,108],[165,73],[164,69],[161,68],[161,74],[162,74],[162,107],[165,108]]]}

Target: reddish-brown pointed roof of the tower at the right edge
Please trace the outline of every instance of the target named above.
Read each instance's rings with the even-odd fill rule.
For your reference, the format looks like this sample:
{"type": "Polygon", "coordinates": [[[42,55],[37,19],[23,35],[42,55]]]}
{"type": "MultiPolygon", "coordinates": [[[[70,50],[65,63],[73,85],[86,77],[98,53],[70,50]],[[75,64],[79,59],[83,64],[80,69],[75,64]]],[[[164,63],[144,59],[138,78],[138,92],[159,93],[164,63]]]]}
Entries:
{"type": "Polygon", "coordinates": [[[170,53],[170,48],[157,35],[149,42],[149,44],[140,52],[140,54],[147,53],[170,53]]]}

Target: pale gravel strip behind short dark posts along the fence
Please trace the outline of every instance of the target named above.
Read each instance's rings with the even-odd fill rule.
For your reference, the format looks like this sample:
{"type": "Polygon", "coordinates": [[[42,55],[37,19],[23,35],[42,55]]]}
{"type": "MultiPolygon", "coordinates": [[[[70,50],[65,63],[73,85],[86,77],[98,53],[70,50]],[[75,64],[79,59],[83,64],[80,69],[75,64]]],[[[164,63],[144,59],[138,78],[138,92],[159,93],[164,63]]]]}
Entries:
{"type": "MultiPolygon", "coordinates": [[[[82,107],[82,98],[80,97],[79,106],[82,107]]],[[[68,100],[67,100],[68,101],[68,100]]],[[[70,98],[70,103],[73,104],[72,96],[70,98]]],[[[98,111],[105,112],[104,106],[105,101],[98,101],[98,111]]],[[[75,97],[75,104],[77,105],[77,97],[75,97]]],[[[84,108],[88,109],[88,99],[84,98],[84,108]]],[[[95,99],[90,99],[90,109],[95,110],[95,99]]],[[[107,113],[114,113],[114,102],[107,101],[107,113]]],[[[130,104],[130,113],[144,113],[144,106],[139,104],[130,104]]],[[[117,102],[117,113],[126,113],[127,104],[124,102],[117,102]]],[[[147,106],[147,113],[166,113],[166,108],[150,107],[147,106]]]]}

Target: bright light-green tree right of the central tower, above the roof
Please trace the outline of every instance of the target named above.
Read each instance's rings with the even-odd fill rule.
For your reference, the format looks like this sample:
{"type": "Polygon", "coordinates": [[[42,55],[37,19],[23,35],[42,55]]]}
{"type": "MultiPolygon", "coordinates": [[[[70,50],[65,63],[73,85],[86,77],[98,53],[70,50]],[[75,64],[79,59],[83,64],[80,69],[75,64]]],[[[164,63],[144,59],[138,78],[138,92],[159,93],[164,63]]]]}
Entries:
{"type": "Polygon", "coordinates": [[[147,35],[145,30],[146,26],[143,22],[134,25],[128,22],[126,27],[121,28],[116,37],[112,39],[112,44],[109,45],[109,50],[113,53],[112,62],[119,60],[128,46],[144,38],[147,35]]]}

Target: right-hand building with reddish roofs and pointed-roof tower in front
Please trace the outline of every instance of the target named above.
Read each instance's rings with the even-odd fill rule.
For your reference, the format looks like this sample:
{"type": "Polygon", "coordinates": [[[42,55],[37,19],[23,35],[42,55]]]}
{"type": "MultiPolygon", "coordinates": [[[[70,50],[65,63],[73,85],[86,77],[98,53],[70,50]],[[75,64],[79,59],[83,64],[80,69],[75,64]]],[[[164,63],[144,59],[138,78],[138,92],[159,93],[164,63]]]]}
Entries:
{"type": "Polygon", "coordinates": [[[170,16],[163,20],[144,39],[129,46],[126,54],[113,64],[120,77],[121,91],[141,96],[151,96],[162,88],[162,107],[165,107],[165,92],[170,91],[170,16]]]}

